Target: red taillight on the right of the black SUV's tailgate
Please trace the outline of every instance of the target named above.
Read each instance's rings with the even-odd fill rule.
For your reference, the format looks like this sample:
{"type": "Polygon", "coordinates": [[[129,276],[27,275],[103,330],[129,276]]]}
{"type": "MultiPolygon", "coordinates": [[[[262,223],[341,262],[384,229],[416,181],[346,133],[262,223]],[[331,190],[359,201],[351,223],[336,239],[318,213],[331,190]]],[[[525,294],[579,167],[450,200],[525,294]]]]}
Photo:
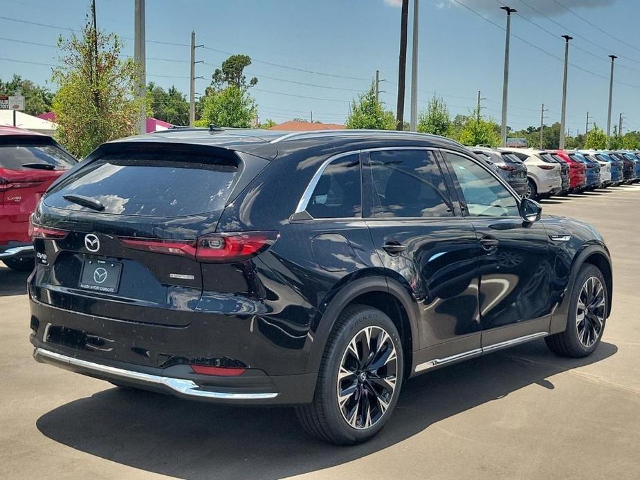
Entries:
{"type": "Polygon", "coordinates": [[[244,261],[264,252],[277,240],[278,233],[234,232],[208,234],[197,240],[174,241],[122,238],[122,245],[147,252],[180,255],[203,263],[244,261]]]}

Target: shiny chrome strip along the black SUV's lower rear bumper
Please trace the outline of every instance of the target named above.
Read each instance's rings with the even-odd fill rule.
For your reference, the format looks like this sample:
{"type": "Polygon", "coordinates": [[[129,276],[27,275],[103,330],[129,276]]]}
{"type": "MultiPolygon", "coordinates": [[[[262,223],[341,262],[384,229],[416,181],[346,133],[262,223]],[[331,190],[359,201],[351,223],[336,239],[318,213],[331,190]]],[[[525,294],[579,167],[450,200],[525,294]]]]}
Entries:
{"type": "Polygon", "coordinates": [[[226,391],[210,391],[202,389],[195,382],[192,382],[192,380],[185,380],[183,378],[161,377],[157,375],[151,375],[149,373],[141,373],[139,371],[109,367],[107,365],[80,360],[80,358],[68,357],[66,355],[61,355],[60,353],[55,353],[53,351],[37,347],[33,351],[33,358],[35,358],[35,360],[37,361],[40,361],[39,358],[43,357],[55,360],[56,362],[66,363],[75,367],[80,367],[98,373],[106,373],[107,375],[113,375],[120,378],[128,378],[130,380],[137,380],[151,385],[168,387],[170,390],[178,394],[192,397],[216,398],[219,400],[263,400],[265,398],[275,398],[278,395],[277,393],[239,394],[226,391]]]}

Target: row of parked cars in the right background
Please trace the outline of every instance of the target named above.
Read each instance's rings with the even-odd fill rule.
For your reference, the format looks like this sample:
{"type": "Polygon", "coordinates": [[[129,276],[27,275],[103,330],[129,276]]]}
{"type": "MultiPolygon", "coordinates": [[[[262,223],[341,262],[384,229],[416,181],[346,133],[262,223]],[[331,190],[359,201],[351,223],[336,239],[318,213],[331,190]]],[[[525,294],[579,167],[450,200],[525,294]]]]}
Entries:
{"type": "Polygon", "coordinates": [[[640,181],[640,151],[470,147],[530,199],[640,181]]]}

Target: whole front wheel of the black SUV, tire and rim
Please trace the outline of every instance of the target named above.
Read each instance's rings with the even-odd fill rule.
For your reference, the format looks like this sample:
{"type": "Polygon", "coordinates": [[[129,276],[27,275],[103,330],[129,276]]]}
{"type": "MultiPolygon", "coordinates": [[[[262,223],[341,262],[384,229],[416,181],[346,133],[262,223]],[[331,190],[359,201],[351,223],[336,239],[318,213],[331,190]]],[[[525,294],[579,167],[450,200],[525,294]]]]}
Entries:
{"type": "Polygon", "coordinates": [[[582,358],[596,351],[607,322],[609,293],[601,271],[591,264],[583,265],[578,272],[571,295],[567,328],[563,332],[549,335],[545,342],[549,350],[558,356],[582,358]],[[589,288],[595,293],[593,302],[589,300],[589,288]],[[578,315],[584,311],[581,307],[583,303],[587,306],[590,303],[598,304],[598,307],[592,308],[588,315],[583,313],[583,320],[578,321],[578,315]]]}

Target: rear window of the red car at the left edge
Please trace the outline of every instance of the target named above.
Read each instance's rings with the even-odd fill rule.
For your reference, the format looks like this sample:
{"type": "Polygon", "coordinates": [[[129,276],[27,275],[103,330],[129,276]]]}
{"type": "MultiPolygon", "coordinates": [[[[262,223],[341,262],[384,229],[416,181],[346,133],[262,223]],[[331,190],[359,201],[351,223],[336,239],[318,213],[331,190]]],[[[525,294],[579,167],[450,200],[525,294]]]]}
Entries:
{"type": "Polygon", "coordinates": [[[0,168],[9,170],[68,170],[75,159],[55,145],[0,145],[0,168]]]}

